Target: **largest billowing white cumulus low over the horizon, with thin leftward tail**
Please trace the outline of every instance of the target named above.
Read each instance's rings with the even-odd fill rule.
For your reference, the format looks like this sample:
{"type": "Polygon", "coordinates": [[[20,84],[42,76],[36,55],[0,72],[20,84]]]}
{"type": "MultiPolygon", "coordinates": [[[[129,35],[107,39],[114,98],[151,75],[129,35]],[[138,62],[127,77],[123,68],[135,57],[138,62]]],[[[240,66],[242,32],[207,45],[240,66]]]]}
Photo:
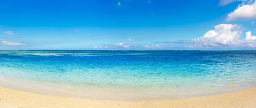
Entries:
{"type": "Polygon", "coordinates": [[[189,44],[189,47],[256,47],[256,37],[251,32],[240,40],[242,31],[240,25],[220,24],[214,30],[207,31],[204,36],[190,41],[163,41],[154,43],[189,44]]]}

